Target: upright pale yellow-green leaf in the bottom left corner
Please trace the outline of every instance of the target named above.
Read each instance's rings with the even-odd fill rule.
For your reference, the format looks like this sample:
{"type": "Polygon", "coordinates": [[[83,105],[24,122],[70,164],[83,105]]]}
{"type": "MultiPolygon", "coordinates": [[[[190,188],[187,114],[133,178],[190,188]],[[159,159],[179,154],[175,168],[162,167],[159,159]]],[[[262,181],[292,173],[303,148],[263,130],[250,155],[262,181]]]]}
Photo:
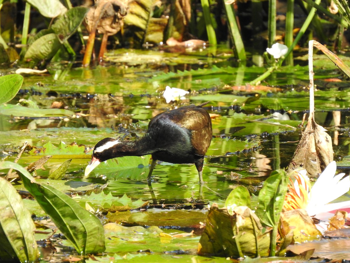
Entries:
{"type": "MultiPolygon", "coordinates": [[[[0,163],[0,169],[6,165],[0,163]]],[[[18,258],[21,262],[35,261],[39,254],[34,238],[35,225],[21,196],[0,177],[0,261],[18,258]]]]}

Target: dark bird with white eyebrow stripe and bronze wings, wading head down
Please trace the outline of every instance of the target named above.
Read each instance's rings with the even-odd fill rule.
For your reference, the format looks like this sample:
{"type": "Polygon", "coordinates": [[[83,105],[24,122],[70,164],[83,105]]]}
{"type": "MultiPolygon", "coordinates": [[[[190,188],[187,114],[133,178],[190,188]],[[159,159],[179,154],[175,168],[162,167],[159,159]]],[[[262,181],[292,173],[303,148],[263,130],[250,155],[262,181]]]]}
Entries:
{"type": "Polygon", "coordinates": [[[209,101],[198,106],[191,104],[156,115],[148,124],[145,136],[122,142],[113,138],[99,141],[92,152],[85,176],[100,162],[121,156],[142,156],[152,154],[148,179],[157,160],[169,163],[194,163],[199,180],[203,183],[204,155],[212,137],[211,120],[202,108],[209,101]]]}

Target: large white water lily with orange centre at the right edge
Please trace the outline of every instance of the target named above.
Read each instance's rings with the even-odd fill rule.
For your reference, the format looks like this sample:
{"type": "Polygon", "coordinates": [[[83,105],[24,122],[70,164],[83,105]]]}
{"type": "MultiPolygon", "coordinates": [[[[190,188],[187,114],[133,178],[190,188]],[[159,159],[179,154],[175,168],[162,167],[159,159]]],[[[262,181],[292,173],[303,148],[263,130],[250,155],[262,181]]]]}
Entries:
{"type": "Polygon", "coordinates": [[[296,172],[294,183],[288,185],[283,210],[305,209],[309,216],[320,220],[328,220],[336,210],[350,211],[350,201],[330,203],[350,188],[350,177],[335,175],[336,169],[335,161],[328,164],[312,188],[306,170],[296,172]]]}

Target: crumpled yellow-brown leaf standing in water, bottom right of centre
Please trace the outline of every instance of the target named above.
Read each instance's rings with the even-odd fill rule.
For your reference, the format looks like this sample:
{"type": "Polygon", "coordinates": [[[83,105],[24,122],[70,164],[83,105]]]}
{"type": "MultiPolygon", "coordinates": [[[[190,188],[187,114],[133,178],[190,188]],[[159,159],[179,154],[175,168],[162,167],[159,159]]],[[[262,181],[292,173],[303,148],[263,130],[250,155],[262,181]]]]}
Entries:
{"type": "Polygon", "coordinates": [[[221,257],[267,256],[270,231],[262,234],[259,218],[244,206],[235,207],[232,215],[213,204],[207,225],[198,244],[198,255],[221,257]],[[257,251],[258,250],[258,251],[257,251]]]}

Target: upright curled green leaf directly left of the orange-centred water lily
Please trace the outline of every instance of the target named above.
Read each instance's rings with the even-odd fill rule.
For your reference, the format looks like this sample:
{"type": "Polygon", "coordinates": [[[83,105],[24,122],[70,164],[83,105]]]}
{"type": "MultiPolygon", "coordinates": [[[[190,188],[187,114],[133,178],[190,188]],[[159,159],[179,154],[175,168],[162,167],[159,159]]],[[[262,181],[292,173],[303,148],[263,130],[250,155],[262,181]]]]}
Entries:
{"type": "Polygon", "coordinates": [[[259,204],[255,214],[262,224],[277,227],[283,202],[287,193],[288,176],[285,170],[275,170],[264,182],[259,193],[259,204]]]}

